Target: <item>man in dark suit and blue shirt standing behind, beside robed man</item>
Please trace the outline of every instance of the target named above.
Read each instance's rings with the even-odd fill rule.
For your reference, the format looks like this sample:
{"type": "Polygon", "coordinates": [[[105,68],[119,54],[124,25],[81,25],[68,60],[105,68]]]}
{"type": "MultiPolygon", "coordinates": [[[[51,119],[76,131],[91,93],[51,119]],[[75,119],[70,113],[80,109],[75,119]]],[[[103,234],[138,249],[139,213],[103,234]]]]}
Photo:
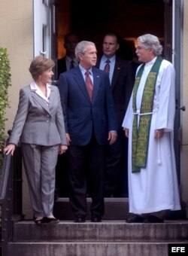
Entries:
{"type": "Polygon", "coordinates": [[[117,140],[113,145],[108,145],[105,152],[105,197],[123,196],[128,193],[127,139],[122,123],[132,93],[133,81],[132,66],[116,54],[119,48],[117,35],[114,32],[106,34],[102,44],[103,55],[96,65],[109,74],[118,120],[117,140]]]}

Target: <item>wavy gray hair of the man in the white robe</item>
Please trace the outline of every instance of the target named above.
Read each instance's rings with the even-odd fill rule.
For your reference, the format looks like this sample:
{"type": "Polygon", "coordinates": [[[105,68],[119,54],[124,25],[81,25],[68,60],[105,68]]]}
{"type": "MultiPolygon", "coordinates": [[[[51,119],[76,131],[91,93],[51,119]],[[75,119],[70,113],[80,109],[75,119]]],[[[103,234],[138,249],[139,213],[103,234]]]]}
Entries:
{"type": "Polygon", "coordinates": [[[155,35],[145,34],[138,37],[138,41],[141,41],[144,44],[146,49],[153,49],[154,54],[159,56],[162,54],[162,45],[159,42],[159,38],[155,35]]]}

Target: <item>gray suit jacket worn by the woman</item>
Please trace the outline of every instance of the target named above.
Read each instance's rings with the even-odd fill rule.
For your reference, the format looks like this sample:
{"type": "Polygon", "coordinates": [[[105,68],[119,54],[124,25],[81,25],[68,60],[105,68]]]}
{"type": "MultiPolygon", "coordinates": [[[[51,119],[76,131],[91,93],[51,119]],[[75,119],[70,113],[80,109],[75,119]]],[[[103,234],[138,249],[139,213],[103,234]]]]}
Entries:
{"type": "Polygon", "coordinates": [[[20,100],[8,143],[67,145],[59,90],[51,86],[49,105],[30,85],[20,90],[20,100]]]}

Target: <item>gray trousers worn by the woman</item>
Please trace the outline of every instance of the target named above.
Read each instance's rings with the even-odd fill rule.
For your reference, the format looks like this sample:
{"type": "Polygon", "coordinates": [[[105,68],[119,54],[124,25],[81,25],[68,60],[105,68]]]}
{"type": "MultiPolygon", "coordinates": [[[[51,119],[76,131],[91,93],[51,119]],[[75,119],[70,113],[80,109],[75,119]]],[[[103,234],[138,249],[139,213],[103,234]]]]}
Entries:
{"type": "Polygon", "coordinates": [[[22,144],[23,164],[35,218],[53,214],[59,145],[22,144]]]}

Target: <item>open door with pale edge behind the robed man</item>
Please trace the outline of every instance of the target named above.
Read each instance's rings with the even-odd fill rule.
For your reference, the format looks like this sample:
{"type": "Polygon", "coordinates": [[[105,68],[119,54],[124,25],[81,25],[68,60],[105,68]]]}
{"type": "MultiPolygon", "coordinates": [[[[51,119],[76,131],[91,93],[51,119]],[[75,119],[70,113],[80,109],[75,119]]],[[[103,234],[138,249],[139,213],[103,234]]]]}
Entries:
{"type": "Polygon", "coordinates": [[[182,56],[182,1],[165,0],[165,40],[164,57],[173,63],[176,72],[175,95],[176,114],[174,120],[174,151],[177,165],[177,177],[180,183],[180,90],[181,90],[181,56],[182,56]]]}

